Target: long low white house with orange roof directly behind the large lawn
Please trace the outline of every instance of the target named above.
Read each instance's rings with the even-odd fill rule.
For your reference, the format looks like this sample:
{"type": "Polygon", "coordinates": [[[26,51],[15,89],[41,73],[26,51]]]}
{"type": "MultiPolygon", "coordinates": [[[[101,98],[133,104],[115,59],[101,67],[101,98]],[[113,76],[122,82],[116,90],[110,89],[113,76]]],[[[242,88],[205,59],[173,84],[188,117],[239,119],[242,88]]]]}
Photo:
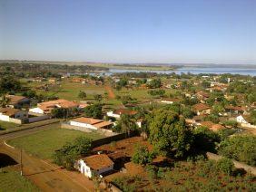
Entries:
{"type": "Polygon", "coordinates": [[[87,128],[91,130],[99,130],[99,129],[108,130],[113,126],[113,123],[110,121],[82,117],[82,118],[76,118],[74,120],[70,120],[70,125],[81,127],[81,128],[87,128]]]}

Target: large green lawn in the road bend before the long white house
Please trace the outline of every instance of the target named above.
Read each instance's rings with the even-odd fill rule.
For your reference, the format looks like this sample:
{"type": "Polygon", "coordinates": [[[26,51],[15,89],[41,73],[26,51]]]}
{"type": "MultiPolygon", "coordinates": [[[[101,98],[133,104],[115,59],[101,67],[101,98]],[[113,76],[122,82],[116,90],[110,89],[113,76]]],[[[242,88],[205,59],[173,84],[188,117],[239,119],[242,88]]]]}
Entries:
{"type": "Polygon", "coordinates": [[[91,139],[101,139],[102,135],[97,133],[85,133],[79,130],[65,130],[52,128],[42,130],[31,135],[8,140],[7,142],[17,148],[25,149],[35,157],[51,159],[54,150],[60,149],[67,141],[73,141],[77,137],[84,136],[91,139]]]}

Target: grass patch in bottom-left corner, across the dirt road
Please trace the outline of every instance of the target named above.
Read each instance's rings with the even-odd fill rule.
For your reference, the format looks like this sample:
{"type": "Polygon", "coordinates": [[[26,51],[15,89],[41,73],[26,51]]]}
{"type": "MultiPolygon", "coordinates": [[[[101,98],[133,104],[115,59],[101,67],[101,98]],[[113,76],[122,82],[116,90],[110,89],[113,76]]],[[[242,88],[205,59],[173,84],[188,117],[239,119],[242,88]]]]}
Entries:
{"type": "Polygon", "coordinates": [[[0,192],[5,191],[40,191],[27,178],[12,168],[0,169],[0,192]]]}

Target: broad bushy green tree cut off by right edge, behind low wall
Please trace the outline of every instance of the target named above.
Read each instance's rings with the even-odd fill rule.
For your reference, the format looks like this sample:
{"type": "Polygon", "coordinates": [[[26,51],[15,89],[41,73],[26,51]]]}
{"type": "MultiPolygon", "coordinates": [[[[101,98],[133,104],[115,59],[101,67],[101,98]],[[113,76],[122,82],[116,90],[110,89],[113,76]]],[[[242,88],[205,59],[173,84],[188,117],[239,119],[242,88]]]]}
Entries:
{"type": "Polygon", "coordinates": [[[237,135],[221,142],[218,151],[227,158],[256,166],[256,137],[252,135],[237,135]]]}

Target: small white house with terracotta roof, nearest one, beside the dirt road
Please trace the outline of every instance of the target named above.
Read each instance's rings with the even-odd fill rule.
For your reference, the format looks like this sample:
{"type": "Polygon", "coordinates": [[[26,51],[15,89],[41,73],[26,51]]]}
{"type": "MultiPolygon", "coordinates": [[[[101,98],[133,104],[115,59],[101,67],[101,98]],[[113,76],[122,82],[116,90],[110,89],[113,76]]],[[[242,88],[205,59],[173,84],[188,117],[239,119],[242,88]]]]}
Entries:
{"type": "Polygon", "coordinates": [[[113,170],[113,161],[105,154],[81,158],[77,161],[78,170],[88,178],[113,170]]]}

